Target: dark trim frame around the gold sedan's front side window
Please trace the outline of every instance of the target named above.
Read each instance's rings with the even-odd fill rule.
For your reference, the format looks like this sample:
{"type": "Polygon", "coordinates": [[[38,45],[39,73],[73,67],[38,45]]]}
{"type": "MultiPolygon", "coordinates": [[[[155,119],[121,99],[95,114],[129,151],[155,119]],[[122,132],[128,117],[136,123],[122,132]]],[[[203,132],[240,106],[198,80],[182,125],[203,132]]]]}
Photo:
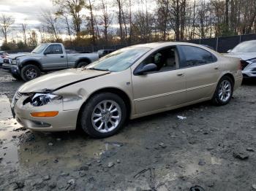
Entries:
{"type": "Polygon", "coordinates": [[[167,46],[167,47],[162,47],[162,48],[159,48],[158,50],[155,50],[154,52],[151,52],[146,58],[143,59],[143,61],[141,61],[138,66],[136,66],[136,68],[133,70],[132,74],[134,76],[142,76],[142,75],[148,75],[148,74],[155,74],[155,73],[160,73],[160,72],[165,72],[165,71],[175,71],[175,70],[178,70],[180,69],[180,63],[181,63],[181,55],[179,53],[179,50],[178,50],[178,45],[171,45],[171,46],[167,46]],[[174,47],[176,48],[176,52],[177,52],[177,55],[178,55],[178,68],[176,69],[166,69],[166,70],[159,70],[159,71],[149,71],[145,74],[135,74],[135,72],[140,69],[141,65],[142,65],[142,62],[145,61],[149,56],[153,55],[154,53],[156,52],[159,52],[160,50],[164,50],[164,49],[167,49],[167,48],[171,48],[171,47],[174,47]]]}

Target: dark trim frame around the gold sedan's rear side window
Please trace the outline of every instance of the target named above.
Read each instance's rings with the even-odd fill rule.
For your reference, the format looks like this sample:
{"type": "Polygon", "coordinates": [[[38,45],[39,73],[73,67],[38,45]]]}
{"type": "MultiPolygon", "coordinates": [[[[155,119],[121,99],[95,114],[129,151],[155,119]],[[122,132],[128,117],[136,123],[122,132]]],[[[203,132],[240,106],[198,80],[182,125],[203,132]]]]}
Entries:
{"type": "Polygon", "coordinates": [[[186,57],[186,54],[184,53],[184,51],[182,49],[182,47],[185,47],[185,46],[186,47],[196,47],[196,48],[199,48],[201,50],[205,50],[206,52],[209,52],[211,54],[211,57],[213,58],[213,62],[211,62],[211,63],[217,63],[217,61],[218,61],[218,58],[217,58],[216,55],[214,55],[212,52],[204,49],[203,47],[197,47],[197,46],[187,45],[187,44],[180,44],[180,45],[177,46],[178,52],[180,52],[181,58],[182,58],[181,59],[182,61],[179,62],[180,63],[179,64],[179,69],[187,69],[187,68],[191,68],[191,67],[203,66],[203,65],[206,65],[206,64],[211,64],[211,63],[201,63],[201,64],[197,64],[197,65],[187,66],[187,61],[186,61],[187,57],[186,57]],[[180,66],[184,66],[184,67],[181,68],[180,66]]]}

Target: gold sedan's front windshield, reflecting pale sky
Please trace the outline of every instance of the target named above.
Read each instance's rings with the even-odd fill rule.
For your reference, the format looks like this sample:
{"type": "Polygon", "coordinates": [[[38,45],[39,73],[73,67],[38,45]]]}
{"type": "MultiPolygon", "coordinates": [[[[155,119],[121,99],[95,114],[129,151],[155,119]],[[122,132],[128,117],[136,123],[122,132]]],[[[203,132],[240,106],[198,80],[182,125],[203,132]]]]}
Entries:
{"type": "Polygon", "coordinates": [[[132,66],[135,61],[151,50],[147,47],[126,47],[106,55],[104,58],[91,63],[86,69],[123,71],[132,66]]]}

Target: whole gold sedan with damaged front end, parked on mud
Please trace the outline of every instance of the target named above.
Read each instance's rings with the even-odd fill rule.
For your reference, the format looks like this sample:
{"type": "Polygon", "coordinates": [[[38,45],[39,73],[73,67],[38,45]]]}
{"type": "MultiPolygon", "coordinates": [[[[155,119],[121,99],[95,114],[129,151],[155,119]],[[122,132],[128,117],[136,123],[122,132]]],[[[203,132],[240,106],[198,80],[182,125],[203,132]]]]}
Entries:
{"type": "Polygon", "coordinates": [[[242,82],[241,63],[184,42],[139,44],[83,69],[67,69],[22,85],[12,101],[31,130],[82,128],[103,138],[127,119],[211,100],[225,105],[242,82]]]}

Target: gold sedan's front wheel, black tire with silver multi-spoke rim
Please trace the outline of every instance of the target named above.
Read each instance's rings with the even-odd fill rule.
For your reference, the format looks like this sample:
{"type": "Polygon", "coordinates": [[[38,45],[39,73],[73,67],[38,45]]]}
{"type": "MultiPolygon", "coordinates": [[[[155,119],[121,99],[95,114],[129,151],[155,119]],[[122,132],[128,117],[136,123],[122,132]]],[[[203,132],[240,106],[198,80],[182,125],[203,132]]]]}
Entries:
{"type": "Polygon", "coordinates": [[[94,95],[83,106],[80,126],[94,138],[113,136],[124,125],[127,107],[122,98],[114,93],[94,95]]]}

